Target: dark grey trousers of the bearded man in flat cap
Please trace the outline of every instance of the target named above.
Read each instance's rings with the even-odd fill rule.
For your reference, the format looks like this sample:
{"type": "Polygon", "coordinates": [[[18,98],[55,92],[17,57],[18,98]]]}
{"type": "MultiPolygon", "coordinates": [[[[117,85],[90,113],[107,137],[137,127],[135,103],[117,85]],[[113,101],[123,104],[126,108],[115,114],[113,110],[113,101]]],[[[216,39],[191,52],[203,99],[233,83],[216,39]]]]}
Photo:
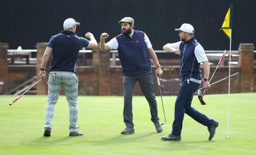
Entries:
{"type": "Polygon", "coordinates": [[[150,105],[151,121],[156,123],[159,121],[158,106],[154,95],[154,87],[152,82],[152,72],[140,74],[137,76],[124,76],[124,123],[126,127],[134,127],[132,115],[132,95],[136,82],[140,83],[140,89],[150,105]]]}

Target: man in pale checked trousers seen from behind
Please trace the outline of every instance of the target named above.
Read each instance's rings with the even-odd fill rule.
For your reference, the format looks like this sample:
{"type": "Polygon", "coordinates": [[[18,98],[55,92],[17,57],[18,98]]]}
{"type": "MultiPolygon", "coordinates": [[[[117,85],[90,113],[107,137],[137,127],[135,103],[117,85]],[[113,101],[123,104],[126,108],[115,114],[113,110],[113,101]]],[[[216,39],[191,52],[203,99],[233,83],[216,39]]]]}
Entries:
{"type": "Polygon", "coordinates": [[[69,106],[69,136],[82,136],[82,132],[78,131],[76,126],[78,119],[78,75],[75,71],[75,63],[78,58],[79,50],[82,47],[96,48],[97,42],[92,33],[87,32],[86,38],[78,37],[76,32],[76,25],[80,25],[74,19],[66,19],[63,23],[64,30],[59,34],[53,36],[41,63],[39,76],[45,78],[45,67],[51,54],[50,73],[48,78],[48,97],[46,107],[46,123],[44,136],[51,136],[51,129],[53,128],[53,114],[55,104],[59,98],[61,86],[64,86],[66,99],[69,106]]]}

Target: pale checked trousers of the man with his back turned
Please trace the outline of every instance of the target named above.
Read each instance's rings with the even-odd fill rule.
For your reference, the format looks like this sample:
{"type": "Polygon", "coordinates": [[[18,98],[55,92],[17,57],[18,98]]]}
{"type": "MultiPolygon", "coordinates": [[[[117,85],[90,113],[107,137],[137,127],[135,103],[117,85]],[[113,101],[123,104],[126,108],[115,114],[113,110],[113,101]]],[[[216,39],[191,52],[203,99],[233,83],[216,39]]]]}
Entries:
{"type": "Polygon", "coordinates": [[[69,130],[76,132],[78,119],[78,76],[73,72],[50,72],[48,78],[48,97],[46,106],[46,123],[44,127],[53,128],[55,104],[59,99],[61,86],[64,86],[66,100],[69,106],[69,130]]]}

